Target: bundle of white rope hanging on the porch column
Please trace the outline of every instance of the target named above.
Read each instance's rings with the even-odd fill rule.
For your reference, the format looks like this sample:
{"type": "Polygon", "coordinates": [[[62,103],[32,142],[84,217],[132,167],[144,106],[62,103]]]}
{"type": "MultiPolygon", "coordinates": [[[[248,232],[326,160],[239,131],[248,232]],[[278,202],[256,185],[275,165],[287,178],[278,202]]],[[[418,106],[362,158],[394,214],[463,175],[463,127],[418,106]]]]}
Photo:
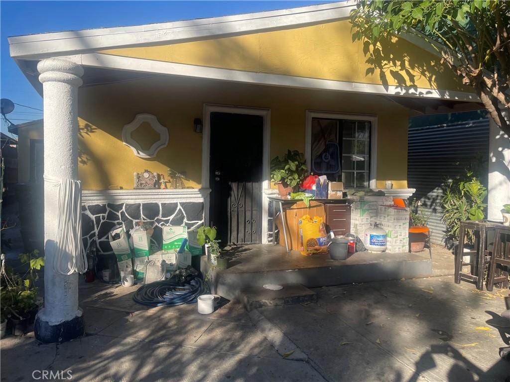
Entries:
{"type": "Polygon", "coordinates": [[[87,256],[82,241],[82,185],[79,180],[44,176],[59,187],[56,251],[53,268],[61,275],[85,273],[87,256]]]}

